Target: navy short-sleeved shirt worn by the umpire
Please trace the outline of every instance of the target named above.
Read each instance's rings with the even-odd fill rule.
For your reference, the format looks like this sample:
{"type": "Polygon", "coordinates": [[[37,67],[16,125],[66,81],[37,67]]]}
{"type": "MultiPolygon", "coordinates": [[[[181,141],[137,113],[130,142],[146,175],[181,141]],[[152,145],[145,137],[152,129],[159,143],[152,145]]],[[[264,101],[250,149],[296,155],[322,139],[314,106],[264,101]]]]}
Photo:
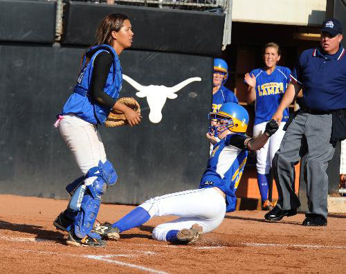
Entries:
{"type": "Polygon", "coordinates": [[[334,55],[320,48],[303,51],[291,73],[291,80],[302,85],[302,105],[316,111],[346,108],[346,56],[340,45],[334,55]]]}

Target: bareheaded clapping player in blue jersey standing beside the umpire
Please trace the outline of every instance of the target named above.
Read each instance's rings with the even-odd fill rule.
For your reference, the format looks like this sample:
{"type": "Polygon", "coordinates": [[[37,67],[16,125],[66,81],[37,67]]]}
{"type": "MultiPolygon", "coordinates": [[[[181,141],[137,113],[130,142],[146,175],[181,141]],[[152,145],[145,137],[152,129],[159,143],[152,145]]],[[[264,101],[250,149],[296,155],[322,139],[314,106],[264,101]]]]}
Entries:
{"type": "MultiPolygon", "coordinates": [[[[253,135],[264,131],[266,122],[271,120],[279,106],[282,96],[289,84],[291,71],[284,66],[277,66],[280,61],[280,46],[270,42],[263,48],[264,67],[246,73],[244,82],[248,84],[248,102],[255,101],[255,121],[253,135]]],[[[269,138],[261,149],[256,151],[257,183],[262,199],[262,209],[271,210],[268,200],[268,187],[271,182],[271,162],[284,137],[283,127],[289,118],[289,109],[283,111],[282,122],[276,133],[269,138]]]]}

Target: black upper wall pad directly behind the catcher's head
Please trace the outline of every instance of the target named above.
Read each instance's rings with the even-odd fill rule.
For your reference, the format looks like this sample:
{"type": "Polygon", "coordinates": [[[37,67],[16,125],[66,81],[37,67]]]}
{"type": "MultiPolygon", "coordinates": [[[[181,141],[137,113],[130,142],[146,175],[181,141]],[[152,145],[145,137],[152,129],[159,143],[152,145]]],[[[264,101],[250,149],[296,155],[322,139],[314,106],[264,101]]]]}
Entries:
{"type": "Polygon", "coordinates": [[[69,1],[66,4],[63,44],[90,46],[101,19],[110,13],[127,15],[134,30],[132,48],[202,55],[220,55],[223,13],[109,6],[69,1]]]}

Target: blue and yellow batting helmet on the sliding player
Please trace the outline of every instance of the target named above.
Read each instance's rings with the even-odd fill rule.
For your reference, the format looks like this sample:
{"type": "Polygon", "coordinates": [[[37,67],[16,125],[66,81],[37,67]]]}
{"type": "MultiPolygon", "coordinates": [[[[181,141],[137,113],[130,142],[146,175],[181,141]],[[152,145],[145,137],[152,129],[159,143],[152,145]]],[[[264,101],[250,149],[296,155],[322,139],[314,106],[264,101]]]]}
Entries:
{"type": "Polygon", "coordinates": [[[210,113],[210,120],[227,120],[226,124],[210,127],[210,133],[213,132],[215,136],[221,134],[226,129],[233,132],[246,132],[248,129],[248,111],[240,104],[228,102],[223,104],[219,111],[210,113]],[[220,127],[225,127],[223,131],[218,131],[220,127]]]}

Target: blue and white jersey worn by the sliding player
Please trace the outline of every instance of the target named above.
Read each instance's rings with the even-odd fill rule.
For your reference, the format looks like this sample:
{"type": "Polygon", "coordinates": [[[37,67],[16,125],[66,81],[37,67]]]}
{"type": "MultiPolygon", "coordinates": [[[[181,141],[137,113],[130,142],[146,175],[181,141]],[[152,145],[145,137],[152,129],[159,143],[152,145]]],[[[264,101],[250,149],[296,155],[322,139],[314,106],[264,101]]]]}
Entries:
{"type": "Polygon", "coordinates": [[[226,211],[235,210],[237,190],[248,156],[245,134],[228,134],[213,147],[199,188],[217,187],[226,194],[226,211]]]}

